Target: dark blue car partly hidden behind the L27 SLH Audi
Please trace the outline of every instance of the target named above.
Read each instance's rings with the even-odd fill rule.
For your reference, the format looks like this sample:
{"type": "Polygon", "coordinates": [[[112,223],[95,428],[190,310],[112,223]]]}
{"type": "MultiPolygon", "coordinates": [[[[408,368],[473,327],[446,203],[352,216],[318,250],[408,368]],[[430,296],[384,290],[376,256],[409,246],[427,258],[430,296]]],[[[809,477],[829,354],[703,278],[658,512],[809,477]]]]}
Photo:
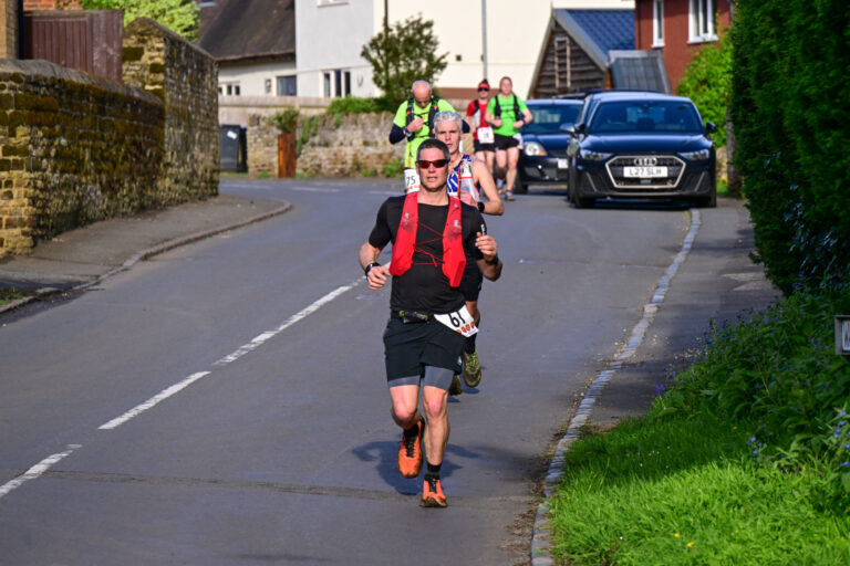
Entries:
{"type": "Polygon", "coordinates": [[[570,145],[568,129],[576,123],[581,99],[540,98],[527,101],[535,119],[520,130],[522,148],[519,151],[515,192],[528,192],[533,184],[566,185],[570,145]]]}

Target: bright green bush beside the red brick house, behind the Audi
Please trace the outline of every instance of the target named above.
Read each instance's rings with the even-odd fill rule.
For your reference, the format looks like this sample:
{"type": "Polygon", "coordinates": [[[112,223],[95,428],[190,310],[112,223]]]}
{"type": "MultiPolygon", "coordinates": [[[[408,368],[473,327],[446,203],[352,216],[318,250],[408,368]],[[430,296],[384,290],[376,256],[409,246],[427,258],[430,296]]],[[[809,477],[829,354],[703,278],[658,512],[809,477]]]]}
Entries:
{"type": "Polygon", "coordinates": [[[678,84],[678,94],[694,101],[703,119],[717,125],[713,137],[718,146],[725,146],[726,108],[732,102],[729,33],[724,33],[721,41],[706,45],[696,54],[678,84]]]}

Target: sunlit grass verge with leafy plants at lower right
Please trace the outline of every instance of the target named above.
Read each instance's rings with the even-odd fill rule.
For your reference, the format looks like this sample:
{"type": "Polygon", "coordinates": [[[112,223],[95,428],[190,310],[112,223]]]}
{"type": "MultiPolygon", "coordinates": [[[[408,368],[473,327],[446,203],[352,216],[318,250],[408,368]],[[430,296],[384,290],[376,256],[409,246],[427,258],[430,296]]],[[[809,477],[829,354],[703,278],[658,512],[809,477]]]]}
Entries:
{"type": "Polygon", "coordinates": [[[552,554],[569,565],[850,564],[848,291],[714,328],[650,413],[567,454],[552,554]]]}

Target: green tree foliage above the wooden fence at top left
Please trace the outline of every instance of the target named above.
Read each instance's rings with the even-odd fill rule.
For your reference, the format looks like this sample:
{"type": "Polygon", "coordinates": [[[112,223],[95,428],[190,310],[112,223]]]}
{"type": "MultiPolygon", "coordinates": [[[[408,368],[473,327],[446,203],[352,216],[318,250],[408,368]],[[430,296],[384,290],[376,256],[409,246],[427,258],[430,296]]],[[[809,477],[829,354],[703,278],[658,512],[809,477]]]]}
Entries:
{"type": "Polygon", "coordinates": [[[85,10],[124,10],[124,25],[151,18],[194,41],[198,38],[198,6],[194,0],[81,0],[85,10]]]}

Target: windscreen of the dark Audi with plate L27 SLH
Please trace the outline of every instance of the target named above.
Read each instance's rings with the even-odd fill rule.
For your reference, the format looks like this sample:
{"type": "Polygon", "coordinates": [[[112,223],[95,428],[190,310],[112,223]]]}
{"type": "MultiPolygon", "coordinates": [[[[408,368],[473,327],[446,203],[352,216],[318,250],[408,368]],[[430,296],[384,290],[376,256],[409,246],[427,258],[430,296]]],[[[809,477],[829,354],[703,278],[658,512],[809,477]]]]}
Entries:
{"type": "Polygon", "coordinates": [[[693,104],[682,101],[601,102],[588,124],[589,134],[660,132],[703,134],[693,104]]]}

